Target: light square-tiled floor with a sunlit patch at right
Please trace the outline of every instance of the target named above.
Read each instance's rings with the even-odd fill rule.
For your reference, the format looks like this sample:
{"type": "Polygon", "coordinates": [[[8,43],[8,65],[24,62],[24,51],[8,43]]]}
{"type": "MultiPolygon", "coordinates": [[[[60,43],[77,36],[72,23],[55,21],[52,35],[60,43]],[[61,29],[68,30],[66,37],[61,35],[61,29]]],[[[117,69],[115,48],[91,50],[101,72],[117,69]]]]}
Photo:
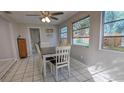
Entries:
{"type": "MultiPolygon", "coordinates": [[[[47,66],[47,78],[44,81],[37,68],[37,57],[28,57],[17,61],[2,82],[55,82],[54,75],[47,66]]],[[[123,66],[122,66],[123,67],[123,66]]],[[[59,71],[59,82],[114,82],[124,81],[124,72],[116,73],[115,67],[101,67],[96,64],[87,67],[83,63],[71,58],[71,75],[68,78],[66,68],[59,71]],[[119,76],[119,77],[118,77],[119,76]]]]}

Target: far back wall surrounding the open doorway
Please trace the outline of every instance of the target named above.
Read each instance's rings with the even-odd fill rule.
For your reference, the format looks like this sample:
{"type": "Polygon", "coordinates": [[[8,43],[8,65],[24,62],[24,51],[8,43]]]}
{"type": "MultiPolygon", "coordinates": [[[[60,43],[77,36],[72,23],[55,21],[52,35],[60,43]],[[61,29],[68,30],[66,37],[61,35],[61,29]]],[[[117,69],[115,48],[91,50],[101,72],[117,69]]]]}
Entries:
{"type": "Polygon", "coordinates": [[[31,44],[30,44],[30,27],[38,27],[40,28],[40,37],[41,37],[41,46],[42,44],[47,43],[47,47],[52,47],[57,45],[57,26],[53,25],[40,25],[40,24],[18,24],[17,34],[21,35],[23,38],[26,38],[27,47],[28,47],[28,55],[31,53],[31,44]],[[46,29],[53,29],[53,34],[51,36],[47,36],[46,29]]]}

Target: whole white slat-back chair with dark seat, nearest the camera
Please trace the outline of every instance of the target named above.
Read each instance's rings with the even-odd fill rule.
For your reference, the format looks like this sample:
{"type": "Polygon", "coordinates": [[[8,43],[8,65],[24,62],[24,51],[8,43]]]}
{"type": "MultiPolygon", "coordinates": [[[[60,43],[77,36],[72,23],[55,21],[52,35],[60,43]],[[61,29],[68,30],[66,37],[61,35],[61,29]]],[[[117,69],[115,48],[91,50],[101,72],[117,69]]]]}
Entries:
{"type": "Polygon", "coordinates": [[[58,69],[67,67],[70,76],[70,50],[71,46],[56,47],[56,59],[50,62],[55,66],[56,81],[58,81],[58,69]]]}

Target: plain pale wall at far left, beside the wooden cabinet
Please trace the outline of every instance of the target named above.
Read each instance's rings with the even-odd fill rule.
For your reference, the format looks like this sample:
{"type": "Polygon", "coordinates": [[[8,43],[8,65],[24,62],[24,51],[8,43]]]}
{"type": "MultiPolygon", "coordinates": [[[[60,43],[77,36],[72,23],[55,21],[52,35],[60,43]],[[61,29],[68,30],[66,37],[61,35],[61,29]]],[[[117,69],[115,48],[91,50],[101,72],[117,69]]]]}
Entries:
{"type": "Polygon", "coordinates": [[[0,60],[17,58],[14,24],[0,16],[0,60]]]}

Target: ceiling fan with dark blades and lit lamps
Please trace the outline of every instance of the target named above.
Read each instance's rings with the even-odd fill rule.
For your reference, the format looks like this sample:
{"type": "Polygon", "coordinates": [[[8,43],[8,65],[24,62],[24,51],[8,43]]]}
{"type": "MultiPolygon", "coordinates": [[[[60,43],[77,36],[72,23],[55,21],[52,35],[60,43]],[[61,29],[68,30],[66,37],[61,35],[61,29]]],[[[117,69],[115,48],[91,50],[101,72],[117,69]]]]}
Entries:
{"type": "Polygon", "coordinates": [[[54,17],[57,15],[62,15],[64,14],[63,12],[55,12],[55,13],[51,13],[49,11],[40,11],[40,14],[27,14],[26,16],[40,16],[40,21],[42,22],[51,22],[51,19],[53,20],[58,20],[58,18],[54,17]]]}

